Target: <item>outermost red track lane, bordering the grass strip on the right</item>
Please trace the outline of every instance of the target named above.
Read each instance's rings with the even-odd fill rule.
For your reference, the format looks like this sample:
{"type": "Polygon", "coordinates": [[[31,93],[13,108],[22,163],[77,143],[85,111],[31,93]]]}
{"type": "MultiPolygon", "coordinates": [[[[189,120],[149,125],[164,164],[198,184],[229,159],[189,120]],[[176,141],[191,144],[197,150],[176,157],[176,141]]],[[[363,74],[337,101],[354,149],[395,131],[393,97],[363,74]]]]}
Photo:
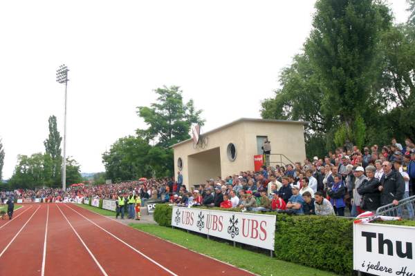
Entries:
{"type": "MultiPolygon", "coordinates": [[[[177,275],[227,275],[245,276],[253,275],[245,270],[235,268],[223,262],[216,261],[201,254],[194,253],[181,246],[176,246],[163,239],[158,239],[142,231],[133,229],[117,221],[113,221],[102,215],[98,215],[89,210],[76,206],[75,204],[65,204],[67,208],[72,208],[84,217],[98,224],[98,226],[116,235],[119,239],[127,242],[133,248],[140,250],[154,261],[165,266],[177,275]],[[202,269],[201,269],[202,268],[202,269]]],[[[61,207],[62,208],[62,207],[61,207]]],[[[93,227],[99,229],[97,226],[93,227]]],[[[131,252],[133,252],[131,250],[131,252]]],[[[147,269],[147,266],[146,266],[147,269]]],[[[142,271],[142,270],[140,270],[142,271]]],[[[145,273],[147,274],[147,273],[145,273]]],[[[149,274],[147,274],[149,275],[149,274]]]]}

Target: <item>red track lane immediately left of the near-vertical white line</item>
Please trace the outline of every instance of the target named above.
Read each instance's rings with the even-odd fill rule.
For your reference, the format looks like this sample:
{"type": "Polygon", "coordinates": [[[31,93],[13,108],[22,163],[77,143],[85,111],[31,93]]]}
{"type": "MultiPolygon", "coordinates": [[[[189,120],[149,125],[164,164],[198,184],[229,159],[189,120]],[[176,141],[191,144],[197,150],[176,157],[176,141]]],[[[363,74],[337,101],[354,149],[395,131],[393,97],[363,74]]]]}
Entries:
{"type": "Polygon", "coordinates": [[[0,257],[1,264],[6,264],[6,266],[1,266],[0,275],[40,275],[47,205],[39,204],[38,208],[39,210],[35,209],[37,210],[35,215],[0,257]],[[6,271],[3,274],[2,270],[5,268],[6,271]]]}

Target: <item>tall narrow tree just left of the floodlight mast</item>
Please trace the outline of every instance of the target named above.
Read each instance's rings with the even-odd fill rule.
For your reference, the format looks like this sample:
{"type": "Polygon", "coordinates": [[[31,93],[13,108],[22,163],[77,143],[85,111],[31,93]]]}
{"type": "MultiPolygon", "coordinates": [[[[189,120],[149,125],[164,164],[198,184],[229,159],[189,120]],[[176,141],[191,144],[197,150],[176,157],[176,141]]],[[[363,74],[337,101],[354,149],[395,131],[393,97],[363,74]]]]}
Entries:
{"type": "Polygon", "coordinates": [[[55,115],[52,115],[48,119],[49,124],[49,136],[48,139],[44,141],[46,155],[49,155],[52,159],[52,170],[51,177],[57,179],[59,171],[62,165],[62,155],[61,155],[61,142],[62,137],[57,131],[57,121],[55,115]]]}

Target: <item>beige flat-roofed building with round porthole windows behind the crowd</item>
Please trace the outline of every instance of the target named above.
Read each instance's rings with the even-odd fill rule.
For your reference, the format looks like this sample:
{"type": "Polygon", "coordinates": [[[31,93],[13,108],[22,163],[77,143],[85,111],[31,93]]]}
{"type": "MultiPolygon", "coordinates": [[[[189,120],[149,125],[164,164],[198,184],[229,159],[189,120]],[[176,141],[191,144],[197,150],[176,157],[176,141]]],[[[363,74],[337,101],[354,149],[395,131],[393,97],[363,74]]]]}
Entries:
{"type": "Polygon", "coordinates": [[[172,146],[175,170],[181,171],[183,184],[190,188],[206,179],[225,178],[241,170],[254,170],[254,155],[268,138],[270,164],[304,161],[304,121],[238,119],[209,132],[201,133],[199,143],[193,139],[172,146]]]}

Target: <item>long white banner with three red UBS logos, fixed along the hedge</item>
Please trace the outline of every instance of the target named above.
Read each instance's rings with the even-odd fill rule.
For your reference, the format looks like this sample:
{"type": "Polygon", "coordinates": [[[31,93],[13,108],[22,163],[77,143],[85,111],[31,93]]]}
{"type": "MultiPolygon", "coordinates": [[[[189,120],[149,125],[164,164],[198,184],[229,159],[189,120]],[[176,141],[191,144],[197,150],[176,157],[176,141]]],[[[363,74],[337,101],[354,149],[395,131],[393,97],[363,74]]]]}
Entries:
{"type": "Polygon", "coordinates": [[[172,226],[274,250],[275,215],[173,207],[172,226]]]}

